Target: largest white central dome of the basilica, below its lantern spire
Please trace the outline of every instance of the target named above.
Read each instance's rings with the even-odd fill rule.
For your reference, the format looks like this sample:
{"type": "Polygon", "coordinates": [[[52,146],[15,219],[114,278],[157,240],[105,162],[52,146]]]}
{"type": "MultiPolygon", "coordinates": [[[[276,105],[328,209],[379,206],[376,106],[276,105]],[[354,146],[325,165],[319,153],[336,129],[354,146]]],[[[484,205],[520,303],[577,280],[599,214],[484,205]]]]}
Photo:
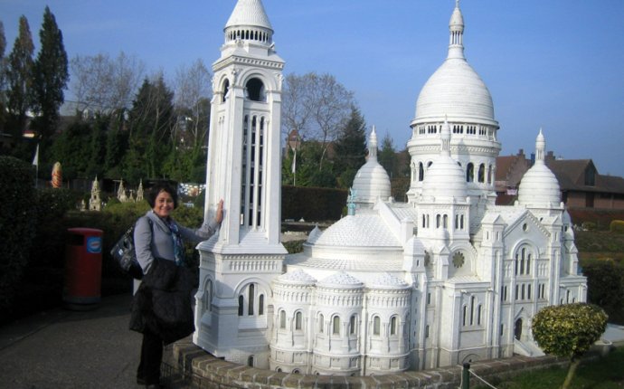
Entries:
{"type": "Polygon", "coordinates": [[[433,73],[416,102],[415,121],[444,119],[497,125],[492,96],[464,58],[448,58],[433,73]]]}

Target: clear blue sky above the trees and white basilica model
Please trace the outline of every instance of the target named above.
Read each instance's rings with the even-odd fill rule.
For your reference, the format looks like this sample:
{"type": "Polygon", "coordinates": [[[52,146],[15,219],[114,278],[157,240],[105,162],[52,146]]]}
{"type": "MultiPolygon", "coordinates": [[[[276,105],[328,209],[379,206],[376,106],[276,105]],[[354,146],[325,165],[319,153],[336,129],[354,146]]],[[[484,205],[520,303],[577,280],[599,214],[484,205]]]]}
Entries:
{"type": "MultiPolygon", "coordinates": [[[[286,72],[328,72],[398,149],[420,90],[447,54],[454,0],[263,0],[286,72]]],[[[35,44],[45,5],[71,57],[134,54],[148,71],[219,57],[235,0],[0,0],[7,50],[24,14],[35,44]]],[[[462,0],[468,62],[490,90],[501,155],[547,149],[624,176],[624,1],[462,0]]]]}

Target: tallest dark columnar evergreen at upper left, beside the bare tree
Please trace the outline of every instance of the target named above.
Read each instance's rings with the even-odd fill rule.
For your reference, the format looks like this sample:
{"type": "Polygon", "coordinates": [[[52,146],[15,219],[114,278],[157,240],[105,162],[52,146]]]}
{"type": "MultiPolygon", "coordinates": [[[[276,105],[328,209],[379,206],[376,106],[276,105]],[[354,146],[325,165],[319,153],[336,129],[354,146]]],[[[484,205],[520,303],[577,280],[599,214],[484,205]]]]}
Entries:
{"type": "Polygon", "coordinates": [[[34,128],[40,138],[48,139],[56,130],[63,90],[70,79],[67,70],[67,52],[62,33],[50,8],[45,7],[42,29],[39,32],[41,50],[33,63],[33,110],[39,116],[34,128]]]}

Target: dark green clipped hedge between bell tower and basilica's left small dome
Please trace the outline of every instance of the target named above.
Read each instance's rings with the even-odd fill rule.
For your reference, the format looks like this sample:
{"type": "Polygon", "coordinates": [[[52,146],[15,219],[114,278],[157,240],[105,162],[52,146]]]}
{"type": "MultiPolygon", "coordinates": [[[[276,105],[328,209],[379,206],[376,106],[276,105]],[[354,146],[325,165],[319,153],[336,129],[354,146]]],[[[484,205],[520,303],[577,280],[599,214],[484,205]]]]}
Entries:
{"type": "Polygon", "coordinates": [[[338,220],[346,204],[345,189],[282,185],[282,220],[323,222],[338,220]]]}

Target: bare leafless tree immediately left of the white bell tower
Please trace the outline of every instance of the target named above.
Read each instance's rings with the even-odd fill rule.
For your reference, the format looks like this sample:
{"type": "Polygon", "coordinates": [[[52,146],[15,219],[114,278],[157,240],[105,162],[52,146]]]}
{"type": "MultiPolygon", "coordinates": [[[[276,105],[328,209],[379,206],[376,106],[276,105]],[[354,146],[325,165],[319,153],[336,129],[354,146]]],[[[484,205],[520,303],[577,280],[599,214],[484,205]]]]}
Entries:
{"type": "Polygon", "coordinates": [[[177,137],[188,147],[203,145],[210,116],[210,71],[198,59],[190,68],[183,65],[175,72],[174,84],[177,137]]]}

